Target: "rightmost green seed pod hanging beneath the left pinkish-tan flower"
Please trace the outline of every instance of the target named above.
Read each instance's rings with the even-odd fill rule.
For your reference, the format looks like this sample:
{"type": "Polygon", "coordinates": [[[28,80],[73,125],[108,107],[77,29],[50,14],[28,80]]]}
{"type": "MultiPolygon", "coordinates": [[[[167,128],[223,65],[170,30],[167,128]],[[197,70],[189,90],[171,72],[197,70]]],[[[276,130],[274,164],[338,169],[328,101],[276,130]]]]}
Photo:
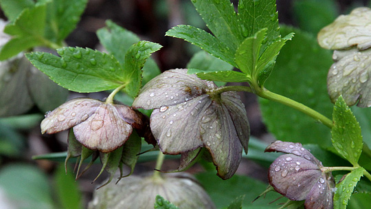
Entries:
{"type": "Polygon", "coordinates": [[[137,131],[133,130],[128,140],[125,142],[122,150],[122,156],[121,156],[121,163],[125,164],[130,168],[130,173],[127,175],[120,176],[120,179],[122,177],[128,177],[134,172],[135,164],[137,164],[137,160],[139,158],[140,148],[142,148],[142,138],[139,137],[137,134],[137,131]]]}

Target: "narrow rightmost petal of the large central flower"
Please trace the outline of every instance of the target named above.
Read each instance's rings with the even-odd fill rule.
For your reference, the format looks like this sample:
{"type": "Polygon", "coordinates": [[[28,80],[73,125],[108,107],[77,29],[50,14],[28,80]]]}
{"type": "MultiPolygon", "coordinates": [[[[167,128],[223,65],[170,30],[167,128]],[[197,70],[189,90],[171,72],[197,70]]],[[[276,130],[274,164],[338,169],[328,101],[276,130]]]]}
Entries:
{"type": "Polygon", "coordinates": [[[225,107],[227,107],[229,114],[232,117],[238,138],[240,139],[243,149],[247,154],[250,126],[249,120],[247,120],[245,105],[243,102],[241,102],[240,96],[238,96],[238,94],[234,91],[227,91],[221,94],[221,100],[225,104],[225,107]]]}

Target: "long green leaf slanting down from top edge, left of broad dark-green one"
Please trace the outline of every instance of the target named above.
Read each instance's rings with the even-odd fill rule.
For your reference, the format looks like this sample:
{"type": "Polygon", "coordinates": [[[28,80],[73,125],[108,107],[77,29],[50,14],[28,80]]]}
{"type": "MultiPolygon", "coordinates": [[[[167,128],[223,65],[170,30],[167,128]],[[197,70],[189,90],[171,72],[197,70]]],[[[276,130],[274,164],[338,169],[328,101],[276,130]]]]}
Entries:
{"type": "Polygon", "coordinates": [[[202,0],[192,3],[214,36],[225,43],[229,50],[236,52],[245,37],[240,32],[233,4],[229,0],[202,0]]]}

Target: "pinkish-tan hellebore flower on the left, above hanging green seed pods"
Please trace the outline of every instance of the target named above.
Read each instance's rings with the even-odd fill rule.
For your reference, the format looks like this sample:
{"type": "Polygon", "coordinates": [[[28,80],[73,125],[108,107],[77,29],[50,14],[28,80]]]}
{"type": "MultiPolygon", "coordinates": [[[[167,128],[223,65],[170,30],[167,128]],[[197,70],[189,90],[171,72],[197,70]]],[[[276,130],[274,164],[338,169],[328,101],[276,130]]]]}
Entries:
{"type": "Polygon", "coordinates": [[[82,145],[109,153],[128,140],[133,128],[144,135],[148,121],[142,113],[126,105],[77,98],[47,113],[41,122],[42,133],[57,133],[72,127],[82,145]]]}

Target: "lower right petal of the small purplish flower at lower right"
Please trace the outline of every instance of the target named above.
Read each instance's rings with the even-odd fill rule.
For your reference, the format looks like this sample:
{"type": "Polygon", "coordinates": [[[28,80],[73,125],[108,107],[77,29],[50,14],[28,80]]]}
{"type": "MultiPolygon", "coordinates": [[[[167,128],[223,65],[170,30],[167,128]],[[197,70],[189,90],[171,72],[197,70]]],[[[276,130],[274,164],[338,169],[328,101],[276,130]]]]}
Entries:
{"type": "Polygon", "coordinates": [[[322,175],[313,186],[304,206],[306,209],[333,209],[333,188],[335,188],[335,181],[332,175],[326,177],[322,175]]]}

